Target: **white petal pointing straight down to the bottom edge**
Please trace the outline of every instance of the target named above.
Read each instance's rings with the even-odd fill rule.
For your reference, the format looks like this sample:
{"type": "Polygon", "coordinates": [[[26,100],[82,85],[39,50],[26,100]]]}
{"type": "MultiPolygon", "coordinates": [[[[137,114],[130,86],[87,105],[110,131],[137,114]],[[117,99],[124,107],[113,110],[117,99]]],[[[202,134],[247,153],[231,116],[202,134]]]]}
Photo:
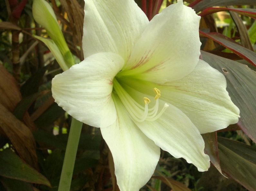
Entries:
{"type": "Polygon", "coordinates": [[[119,98],[113,97],[117,121],[101,134],[109,146],[121,191],[138,191],[151,178],[160,157],[160,148],[130,119],[119,98]]]}

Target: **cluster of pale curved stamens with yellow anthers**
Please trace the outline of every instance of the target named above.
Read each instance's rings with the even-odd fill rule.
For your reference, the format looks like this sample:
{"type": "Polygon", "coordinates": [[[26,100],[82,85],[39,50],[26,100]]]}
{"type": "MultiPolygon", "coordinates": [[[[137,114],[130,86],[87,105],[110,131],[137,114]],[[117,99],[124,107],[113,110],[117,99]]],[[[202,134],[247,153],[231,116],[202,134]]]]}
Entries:
{"type": "Polygon", "coordinates": [[[148,104],[150,103],[150,99],[147,97],[144,97],[144,104],[145,107],[138,104],[126,91],[125,89],[119,84],[119,82],[114,78],[113,80],[113,87],[119,96],[122,104],[126,108],[127,112],[129,113],[130,117],[137,121],[137,122],[143,122],[145,120],[147,121],[154,121],[157,120],[169,107],[168,104],[164,104],[164,107],[160,112],[159,110],[159,100],[158,98],[161,96],[161,92],[156,87],[154,88],[154,91],[156,93],[155,96],[155,105],[152,108],[148,108],[148,104]]]}

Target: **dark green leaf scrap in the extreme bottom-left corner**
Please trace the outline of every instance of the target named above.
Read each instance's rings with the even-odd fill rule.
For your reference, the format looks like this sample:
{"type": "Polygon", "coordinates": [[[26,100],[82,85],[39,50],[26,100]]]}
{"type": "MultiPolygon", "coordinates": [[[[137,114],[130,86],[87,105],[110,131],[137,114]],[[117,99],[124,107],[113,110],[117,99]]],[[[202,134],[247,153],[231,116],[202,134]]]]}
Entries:
{"type": "Polygon", "coordinates": [[[21,180],[1,177],[0,181],[2,182],[7,191],[34,191],[32,184],[23,182],[21,180]]]}

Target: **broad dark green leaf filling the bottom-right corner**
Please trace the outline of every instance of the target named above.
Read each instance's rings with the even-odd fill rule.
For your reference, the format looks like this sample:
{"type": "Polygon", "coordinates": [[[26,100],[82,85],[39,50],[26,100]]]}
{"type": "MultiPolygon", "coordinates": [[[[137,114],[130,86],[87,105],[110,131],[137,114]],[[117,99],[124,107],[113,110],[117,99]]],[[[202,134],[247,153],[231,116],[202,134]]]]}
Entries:
{"type": "Polygon", "coordinates": [[[256,188],[256,148],[227,138],[218,137],[223,172],[248,190],[256,188]]]}

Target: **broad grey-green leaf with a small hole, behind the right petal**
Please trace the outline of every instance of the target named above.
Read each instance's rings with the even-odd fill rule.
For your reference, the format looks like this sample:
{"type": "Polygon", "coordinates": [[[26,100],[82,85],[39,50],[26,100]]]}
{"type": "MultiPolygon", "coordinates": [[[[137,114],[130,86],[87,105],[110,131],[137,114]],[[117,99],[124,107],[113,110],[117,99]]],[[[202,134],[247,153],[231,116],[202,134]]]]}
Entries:
{"type": "Polygon", "coordinates": [[[202,51],[202,58],[224,74],[232,102],[240,109],[240,128],[256,142],[256,73],[247,65],[202,51]]]}

